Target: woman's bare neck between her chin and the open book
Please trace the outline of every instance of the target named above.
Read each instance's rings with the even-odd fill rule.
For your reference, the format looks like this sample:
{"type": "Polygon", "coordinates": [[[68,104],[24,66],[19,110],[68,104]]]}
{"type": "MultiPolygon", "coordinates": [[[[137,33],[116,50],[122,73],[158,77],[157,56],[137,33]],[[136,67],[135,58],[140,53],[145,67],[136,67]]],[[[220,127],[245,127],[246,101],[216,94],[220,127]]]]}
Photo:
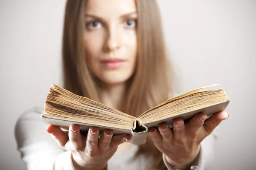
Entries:
{"type": "Polygon", "coordinates": [[[119,111],[124,110],[126,95],[125,83],[117,85],[102,85],[100,95],[103,104],[118,109],[119,111]]]}

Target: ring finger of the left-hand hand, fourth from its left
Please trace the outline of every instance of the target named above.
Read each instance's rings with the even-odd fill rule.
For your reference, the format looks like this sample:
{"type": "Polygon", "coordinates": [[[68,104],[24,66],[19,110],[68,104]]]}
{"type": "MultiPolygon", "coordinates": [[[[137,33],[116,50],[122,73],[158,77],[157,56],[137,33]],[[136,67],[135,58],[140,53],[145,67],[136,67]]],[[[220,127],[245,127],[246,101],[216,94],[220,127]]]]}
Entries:
{"type": "Polygon", "coordinates": [[[99,139],[98,147],[100,150],[107,150],[113,136],[113,130],[105,129],[99,139]]]}

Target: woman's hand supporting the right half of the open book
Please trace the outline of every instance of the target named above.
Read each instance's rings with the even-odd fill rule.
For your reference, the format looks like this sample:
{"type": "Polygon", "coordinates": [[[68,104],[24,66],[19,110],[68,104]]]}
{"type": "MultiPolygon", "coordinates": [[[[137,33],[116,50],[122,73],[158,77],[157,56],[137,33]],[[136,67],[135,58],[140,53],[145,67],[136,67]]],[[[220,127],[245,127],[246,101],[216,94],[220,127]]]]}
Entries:
{"type": "Polygon", "coordinates": [[[215,113],[209,119],[206,114],[198,113],[186,125],[183,119],[178,118],[173,120],[172,130],[166,123],[161,123],[158,130],[150,128],[149,134],[170,164],[186,169],[198,156],[203,139],[228,117],[227,112],[215,113]]]}

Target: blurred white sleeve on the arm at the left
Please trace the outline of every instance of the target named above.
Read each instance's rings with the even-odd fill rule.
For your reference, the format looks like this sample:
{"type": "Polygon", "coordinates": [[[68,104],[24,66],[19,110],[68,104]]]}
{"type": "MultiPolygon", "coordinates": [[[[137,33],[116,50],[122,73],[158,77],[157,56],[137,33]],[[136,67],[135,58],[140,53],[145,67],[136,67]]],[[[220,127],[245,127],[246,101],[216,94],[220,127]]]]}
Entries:
{"type": "Polygon", "coordinates": [[[20,116],[15,127],[17,149],[27,170],[74,170],[71,153],[47,133],[39,111],[20,116]]]}

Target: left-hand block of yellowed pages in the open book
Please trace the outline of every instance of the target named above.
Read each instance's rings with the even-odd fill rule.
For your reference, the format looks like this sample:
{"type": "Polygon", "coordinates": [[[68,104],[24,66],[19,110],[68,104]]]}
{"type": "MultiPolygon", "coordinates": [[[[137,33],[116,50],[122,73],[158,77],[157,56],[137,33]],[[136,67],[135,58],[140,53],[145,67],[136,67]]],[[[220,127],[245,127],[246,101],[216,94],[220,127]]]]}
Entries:
{"type": "Polygon", "coordinates": [[[93,125],[132,128],[136,118],[107,105],[78,96],[52,84],[45,101],[45,116],[93,125]]]}

